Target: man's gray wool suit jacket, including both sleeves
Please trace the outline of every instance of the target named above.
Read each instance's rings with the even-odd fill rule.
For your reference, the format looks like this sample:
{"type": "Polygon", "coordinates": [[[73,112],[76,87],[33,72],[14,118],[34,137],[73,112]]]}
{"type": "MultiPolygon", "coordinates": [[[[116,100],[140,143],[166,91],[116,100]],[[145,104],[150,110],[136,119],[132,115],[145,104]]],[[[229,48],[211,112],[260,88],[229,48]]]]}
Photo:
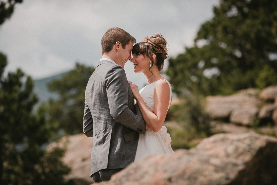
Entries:
{"type": "Polygon", "coordinates": [[[135,113],[134,98],[124,69],[107,60],[98,63],[85,92],[84,134],[93,137],[91,174],[125,168],[134,161],[139,133],[146,124],[135,113]]]}

